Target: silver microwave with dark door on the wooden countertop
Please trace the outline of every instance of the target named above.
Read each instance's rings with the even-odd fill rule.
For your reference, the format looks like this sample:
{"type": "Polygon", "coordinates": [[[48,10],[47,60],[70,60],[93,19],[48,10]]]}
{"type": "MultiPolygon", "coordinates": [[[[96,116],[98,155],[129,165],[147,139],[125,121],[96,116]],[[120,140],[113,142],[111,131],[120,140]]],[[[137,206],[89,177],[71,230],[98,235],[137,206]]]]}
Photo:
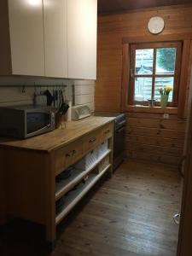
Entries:
{"type": "Polygon", "coordinates": [[[27,138],[55,129],[50,108],[15,106],[0,108],[0,136],[27,138]]]}

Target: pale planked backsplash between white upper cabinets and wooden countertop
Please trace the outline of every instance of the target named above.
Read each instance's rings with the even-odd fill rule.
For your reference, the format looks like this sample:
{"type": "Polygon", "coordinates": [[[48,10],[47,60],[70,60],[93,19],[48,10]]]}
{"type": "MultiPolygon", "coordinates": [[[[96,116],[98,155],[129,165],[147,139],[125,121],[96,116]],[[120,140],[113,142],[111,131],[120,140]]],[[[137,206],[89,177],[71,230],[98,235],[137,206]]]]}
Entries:
{"type": "Polygon", "coordinates": [[[32,104],[34,94],[47,89],[63,90],[67,101],[73,101],[74,91],[75,105],[86,104],[94,111],[95,81],[20,76],[0,78],[0,106],[32,104]]]}

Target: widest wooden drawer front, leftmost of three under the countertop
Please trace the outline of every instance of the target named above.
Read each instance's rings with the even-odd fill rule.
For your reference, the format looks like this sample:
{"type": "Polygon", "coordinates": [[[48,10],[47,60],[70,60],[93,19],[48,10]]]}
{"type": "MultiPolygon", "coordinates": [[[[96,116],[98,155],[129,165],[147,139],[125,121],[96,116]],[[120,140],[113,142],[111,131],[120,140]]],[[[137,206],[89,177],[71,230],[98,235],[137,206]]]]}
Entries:
{"type": "Polygon", "coordinates": [[[55,152],[55,174],[64,171],[83,156],[82,140],[70,143],[55,152]]]}

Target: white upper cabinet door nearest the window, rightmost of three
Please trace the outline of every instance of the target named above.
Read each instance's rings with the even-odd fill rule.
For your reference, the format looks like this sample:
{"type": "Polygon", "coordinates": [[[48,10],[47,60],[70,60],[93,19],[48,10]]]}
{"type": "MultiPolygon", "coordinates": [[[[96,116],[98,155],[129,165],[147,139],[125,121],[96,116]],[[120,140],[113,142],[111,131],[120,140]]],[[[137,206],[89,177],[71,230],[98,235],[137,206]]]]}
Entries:
{"type": "Polygon", "coordinates": [[[67,0],[70,79],[96,79],[96,27],[96,0],[67,0]]]}

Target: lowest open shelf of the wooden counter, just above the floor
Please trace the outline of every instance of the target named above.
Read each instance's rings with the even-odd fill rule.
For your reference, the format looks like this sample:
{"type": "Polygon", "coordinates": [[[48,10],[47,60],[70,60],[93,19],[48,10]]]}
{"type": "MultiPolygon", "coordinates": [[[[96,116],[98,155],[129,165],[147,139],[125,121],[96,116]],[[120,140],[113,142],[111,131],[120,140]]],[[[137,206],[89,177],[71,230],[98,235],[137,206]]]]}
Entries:
{"type": "Polygon", "coordinates": [[[56,216],[55,224],[59,224],[61,220],[67,216],[68,212],[73,209],[73,207],[84,197],[84,195],[95,185],[95,183],[104,175],[105,172],[108,171],[110,167],[111,165],[109,164],[97,175],[91,173],[86,183],[81,183],[76,190],[71,191],[66,195],[63,210],[56,216]]]}

